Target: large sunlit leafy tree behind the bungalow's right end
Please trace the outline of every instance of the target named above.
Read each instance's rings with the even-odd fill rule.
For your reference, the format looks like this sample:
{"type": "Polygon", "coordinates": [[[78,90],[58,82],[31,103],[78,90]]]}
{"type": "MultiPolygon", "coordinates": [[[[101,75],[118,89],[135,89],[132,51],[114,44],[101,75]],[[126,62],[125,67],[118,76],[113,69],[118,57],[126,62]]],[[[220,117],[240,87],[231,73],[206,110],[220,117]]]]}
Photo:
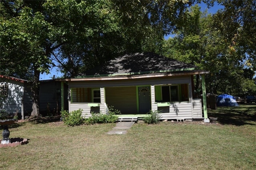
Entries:
{"type": "MultiPolygon", "coordinates": [[[[243,76],[244,55],[232,46],[232,37],[220,31],[227,26],[216,27],[216,22],[216,16],[202,13],[199,6],[191,7],[186,12],[184,26],[177,28],[176,36],[166,41],[164,55],[209,70],[206,76],[208,93],[245,94],[248,87],[244,91],[241,87],[252,83],[243,76]]],[[[198,80],[197,76],[196,89],[200,89],[198,80]]]]}

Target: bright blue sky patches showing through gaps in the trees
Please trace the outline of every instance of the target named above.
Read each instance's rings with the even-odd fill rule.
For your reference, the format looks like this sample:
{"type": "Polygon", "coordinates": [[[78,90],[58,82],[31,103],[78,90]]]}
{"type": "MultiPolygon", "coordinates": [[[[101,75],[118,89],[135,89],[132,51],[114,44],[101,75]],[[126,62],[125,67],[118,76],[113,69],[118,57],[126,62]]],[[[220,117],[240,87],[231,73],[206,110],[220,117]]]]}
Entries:
{"type": "MultiPolygon", "coordinates": [[[[201,11],[205,11],[205,10],[208,10],[208,13],[209,14],[214,14],[216,13],[220,8],[222,8],[222,6],[219,6],[217,3],[214,4],[214,6],[210,9],[207,8],[207,5],[202,3],[202,4],[199,4],[199,6],[201,7],[201,11]]],[[[168,35],[168,36],[165,36],[164,39],[165,40],[168,40],[168,38],[172,37],[173,35],[168,35]]],[[[50,73],[49,74],[40,74],[40,80],[50,80],[50,79],[53,79],[53,77],[61,77],[63,74],[60,73],[60,71],[57,71],[57,69],[54,67],[50,70],[50,73]]]]}

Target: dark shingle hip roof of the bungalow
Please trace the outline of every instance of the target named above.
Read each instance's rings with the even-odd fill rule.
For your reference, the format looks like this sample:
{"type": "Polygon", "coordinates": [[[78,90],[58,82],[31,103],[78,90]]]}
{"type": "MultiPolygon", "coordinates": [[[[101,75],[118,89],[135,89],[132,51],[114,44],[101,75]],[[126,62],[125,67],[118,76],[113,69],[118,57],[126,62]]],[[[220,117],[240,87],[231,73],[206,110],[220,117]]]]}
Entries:
{"type": "Polygon", "coordinates": [[[170,59],[155,53],[134,53],[124,55],[106,62],[103,66],[95,67],[86,71],[88,75],[112,75],[112,74],[131,74],[148,73],[168,70],[182,70],[195,68],[192,64],[182,63],[175,59],[170,59]]]}

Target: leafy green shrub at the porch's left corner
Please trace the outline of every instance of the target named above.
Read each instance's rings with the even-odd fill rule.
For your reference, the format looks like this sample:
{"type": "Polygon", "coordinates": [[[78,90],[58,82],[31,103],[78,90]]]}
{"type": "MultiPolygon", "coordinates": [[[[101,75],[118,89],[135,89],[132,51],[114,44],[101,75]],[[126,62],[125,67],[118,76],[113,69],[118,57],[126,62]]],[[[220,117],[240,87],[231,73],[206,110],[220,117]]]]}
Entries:
{"type": "Polygon", "coordinates": [[[72,111],[70,113],[68,113],[68,111],[62,111],[62,121],[64,121],[64,123],[69,126],[82,125],[84,121],[84,118],[82,117],[82,111],[82,109],[78,109],[77,111],[72,111]]]}

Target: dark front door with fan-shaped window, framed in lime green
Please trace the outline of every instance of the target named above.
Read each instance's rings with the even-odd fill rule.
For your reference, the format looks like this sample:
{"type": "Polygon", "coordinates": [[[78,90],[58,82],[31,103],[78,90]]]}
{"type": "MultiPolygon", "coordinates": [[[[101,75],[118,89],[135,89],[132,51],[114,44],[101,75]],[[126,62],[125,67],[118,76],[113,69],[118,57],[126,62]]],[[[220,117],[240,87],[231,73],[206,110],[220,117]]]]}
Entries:
{"type": "Polygon", "coordinates": [[[139,112],[148,113],[151,110],[150,87],[138,87],[139,112]]]}

